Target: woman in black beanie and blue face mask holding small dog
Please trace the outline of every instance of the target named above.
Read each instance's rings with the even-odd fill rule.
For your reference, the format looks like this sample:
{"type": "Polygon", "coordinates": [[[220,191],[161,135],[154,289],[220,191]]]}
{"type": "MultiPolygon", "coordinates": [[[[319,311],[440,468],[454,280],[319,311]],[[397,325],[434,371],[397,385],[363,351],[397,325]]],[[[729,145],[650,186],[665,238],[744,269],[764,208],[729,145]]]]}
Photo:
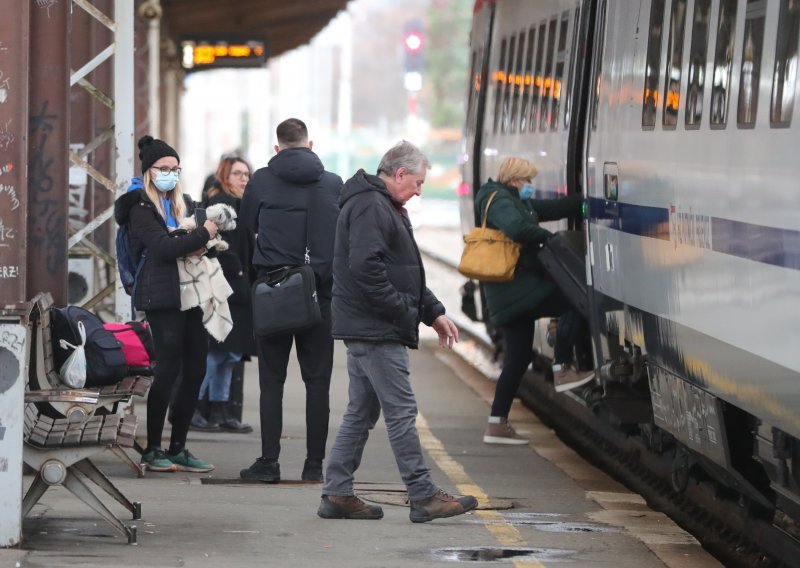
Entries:
{"type": "Polygon", "coordinates": [[[134,258],[144,264],[136,276],[133,302],[153,333],[156,367],[147,398],[147,447],[142,463],[152,471],[206,472],[214,466],[186,449],[186,435],[197,394],[206,372],[208,333],[199,307],[181,311],[180,281],[176,260],[201,254],[217,234],[217,225],[206,221],[191,232],[176,231],[181,219],[194,213],[194,203],[181,191],[180,158],[162,140],[139,140],[142,176],[134,178],[128,192],[114,204],[119,225],[129,227],[134,258]],[[161,434],[170,394],[182,370],[180,388],[172,405],[172,437],[165,452],[161,434]]]}

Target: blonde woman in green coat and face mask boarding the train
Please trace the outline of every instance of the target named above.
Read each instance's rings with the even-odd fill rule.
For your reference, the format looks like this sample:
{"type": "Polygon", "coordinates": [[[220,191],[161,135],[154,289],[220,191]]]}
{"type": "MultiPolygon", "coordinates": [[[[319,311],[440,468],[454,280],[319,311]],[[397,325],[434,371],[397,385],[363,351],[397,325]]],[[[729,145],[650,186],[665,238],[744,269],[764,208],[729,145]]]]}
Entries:
{"type": "MultiPolygon", "coordinates": [[[[506,158],[500,164],[497,181],[490,179],[475,196],[476,218],[482,221],[489,198],[496,194],[486,224],[521,245],[514,279],[483,284],[489,320],[500,328],[505,340],[503,370],[497,380],[489,424],[483,436],[487,444],[527,444],[528,441],[509,425],[508,413],[522,375],[533,359],[535,323],[539,318],[558,317],[572,309],[556,285],[546,278],[539,262],[539,250],[551,235],[539,222],[579,215],[581,196],[532,199],[533,179],[537,173],[536,166],[527,160],[506,158]]],[[[578,328],[573,326],[573,330],[578,328]]],[[[555,363],[559,366],[554,365],[554,370],[560,374],[560,382],[581,381],[593,376],[575,370],[573,344],[574,336],[567,340],[556,339],[555,363]]]]}

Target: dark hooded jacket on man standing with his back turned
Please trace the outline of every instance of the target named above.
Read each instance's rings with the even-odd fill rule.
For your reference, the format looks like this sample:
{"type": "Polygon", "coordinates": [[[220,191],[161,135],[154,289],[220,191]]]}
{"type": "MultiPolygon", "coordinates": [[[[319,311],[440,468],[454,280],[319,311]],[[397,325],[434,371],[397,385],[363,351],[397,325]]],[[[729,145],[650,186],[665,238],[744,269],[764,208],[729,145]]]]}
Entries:
{"type": "Polygon", "coordinates": [[[257,234],[253,264],[259,274],[304,263],[306,219],[317,293],[331,297],[333,239],[342,178],[325,171],[309,148],[286,148],[253,174],[240,219],[257,234]],[[308,207],[311,206],[309,213],[308,207]]]}

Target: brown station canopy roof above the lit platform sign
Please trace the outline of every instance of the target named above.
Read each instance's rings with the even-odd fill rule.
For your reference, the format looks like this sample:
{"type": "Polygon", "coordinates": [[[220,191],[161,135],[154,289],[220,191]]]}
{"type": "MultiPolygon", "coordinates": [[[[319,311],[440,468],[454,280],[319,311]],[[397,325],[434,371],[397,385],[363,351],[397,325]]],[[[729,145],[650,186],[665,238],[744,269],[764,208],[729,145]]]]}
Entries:
{"type": "Polygon", "coordinates": [[[262,39],[268,57],[308,43],[348,0],[161,0],[170,37],[262,39]]]}

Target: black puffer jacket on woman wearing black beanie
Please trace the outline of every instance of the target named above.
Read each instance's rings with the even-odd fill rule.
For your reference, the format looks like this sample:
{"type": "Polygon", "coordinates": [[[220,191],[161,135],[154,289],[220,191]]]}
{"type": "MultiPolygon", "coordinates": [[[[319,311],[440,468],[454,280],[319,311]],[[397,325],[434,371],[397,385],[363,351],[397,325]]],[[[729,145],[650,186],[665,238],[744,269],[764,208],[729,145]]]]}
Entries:
{"type": "MultiPolygon", "coordinates": [[[[194,212],[194,203],[184,195],[187,215],[194,212]]],[[[136,279],[134,306],[137,310],[180,309],[181,291],[178,258],[203,247],[209,239],[205,227],[187,233],[170,232],[164,218],[150,201],[144,189],[132,189],[114,203],[114,219],[118,225],[129,223],[131,249],[134,255],[146,251],[142,271],[136,279]]]]}

